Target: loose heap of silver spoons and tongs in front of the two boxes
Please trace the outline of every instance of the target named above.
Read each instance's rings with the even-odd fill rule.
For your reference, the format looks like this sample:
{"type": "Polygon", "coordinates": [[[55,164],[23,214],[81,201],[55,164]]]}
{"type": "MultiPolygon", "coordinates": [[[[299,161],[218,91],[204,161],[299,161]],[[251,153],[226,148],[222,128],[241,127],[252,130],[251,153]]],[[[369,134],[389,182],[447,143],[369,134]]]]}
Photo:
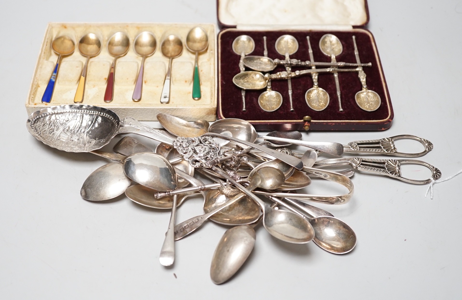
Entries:
{"type": "Polygon", "coordinates": [[[130,117],[121,120],[106,108],[63,105],[31,114],[27,128],[39,141],[56,149],[91,152],[112,161],[85,180],[80,191],[82,198],[103,201],[125,192],[140,205],[171,209],[159,256],[165,266],[174,263],[175,240],[191,234],[207,219],[233,226],[226,231],[213,255],[210,274],[217,284],[230,279],[243,265],[254,247],[254,227],[260,220],[269,234],[282,241],[303,244],[314,240],[317,246],[336,254],[353,250],[356,235],[352,228],[327,211],[305,203],[345,204],[351,199],[354,189],[349,176],[354,170],[333,172],[324,167],[350,165],[355,170],[413,184],[426,184],[441,176],[437,168],[418,160],[317,159],[322,152],[334,156],[347,152],[417,157],[432,150],[432,143],[411,135],[342,145],[303,141],[299,132],[271,132],[261,136],[251,124],[240,119],[218,120],[210,126],[205,120],[191,123],[169,114],[159,114],[158,120],[164,129],[150,128],[130,117]],[[114,147],[116,153],[99,150],[119,133],[140,134],[160,144],[152,152],[134,138],[125,137],[114,147]],[[419,141],[424,150],[398,151],[395,140],[403,138],[419,141]],[[258,142],[259,139],[263,141],[258,142]],[[294,144],[307,150],[299,153],[286,148],[294,144]],[[403,177],[403,164],[426,166],[432,172],[431,178],[403,177]],[[198,173],[214,183],[205,184],[194,177],[198,173]],[[346,192],[341,195],[297,192],[312,184],[314,178],[338,183],[346,192]],[[204,215],[176,224],[177,206],[192,195],[204,198],[204,215]],[[257,195],[265,196],[274,204],[257,195]]]}

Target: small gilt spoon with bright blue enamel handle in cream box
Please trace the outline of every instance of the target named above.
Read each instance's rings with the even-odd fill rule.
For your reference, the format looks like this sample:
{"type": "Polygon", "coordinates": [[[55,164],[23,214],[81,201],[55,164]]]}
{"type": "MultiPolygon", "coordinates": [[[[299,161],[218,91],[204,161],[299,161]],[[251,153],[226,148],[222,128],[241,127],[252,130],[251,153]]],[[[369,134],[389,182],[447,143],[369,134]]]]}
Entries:
{"type": "Polygon", "coordinates": [[[69,36],[58,36],[51,42],[51,48],[53,52],[58,54],[58,60],[56,61],[55,68],[51,74],[50,81],[47,84],[45,91],[43,92],[42,102],[51,102],[53,96],[53,90],[55,89],[56,77],[58,76],[59,66],[61,65],[61,58],[65,55],[72,54],[75,49],[74,41],[69,36]]]}

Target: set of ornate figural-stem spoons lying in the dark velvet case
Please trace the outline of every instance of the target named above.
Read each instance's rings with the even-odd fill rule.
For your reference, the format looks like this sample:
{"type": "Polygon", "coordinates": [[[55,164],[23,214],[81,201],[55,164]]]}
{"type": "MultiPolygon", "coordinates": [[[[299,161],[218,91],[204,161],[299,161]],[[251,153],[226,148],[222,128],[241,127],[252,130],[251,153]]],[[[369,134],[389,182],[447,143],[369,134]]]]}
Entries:
{"type": "Polygon", "coordinates": [[[340,112],[343,112],[343,108],[341,106],[338,72],[358,72],[362,90],[355,95],[356,103],[359,108],[365,111],[371,112],[377,110],[381,103],[380,96],[376,92],[367,88],[366,74],[363,70],[363,66],[371,66],[371,63],[361,63],[359,60],[358,47],[356,45],[356,37],[353,36],[352,38],[356,63],[337,62],[336,56],[342,53],[343,46],[338,37],[332,34],[325,34],[319,41],[319,48],[323,54],[331,58],[331,62],[316,62],[314,60],[309,36],[306,37],[310,56],[310,60],[307,61],[290,59],[290,55],[295,54],[298,51],[298,41],[291,35],[280,36],[274,45],[276,51],[284,56],[284,60],[272,60],[267,57],[266,36],[263,38],[265,49],[264,56],[246,56],[247,54],[252,53],[255,49],[255,42],[250,36],[238,36],[232,43],[232,48],[235,53],[241,55],[241,60],[239,61],[239,68],[241,72],[234,76],[233,83],[242,89],[242,110],[246,110],[245,90],[260,90],[265,87],[267,90],[261,93],[258,97],[258,104],[260,105],[260,108],[267,112],[272,112],[280,108],[282,104],[282,95],[271,89],[271,80],[286,79],[288,84],[290,111],[294,111],[292,104],[291,78],[310,73],[313,79],[313,87],[306,91],[305,101],[311,109],[315,111],[322,111],[328,107],[330,97],[326,90],[318,86],[318,73],[320,72],[331,72],[334,74],[340,112]],[[273,71],[278,65],[285,66],[286,71],[277,72],[275,74],[261,73],[273,71]],[[292,72],[292,66],[311,66],[311,69],[292,72]],[[323,68],[316,69],[316,66],[322,66],[323,68]],[[342,69],[341,67],[343,66],[354,66],[356,68],[342,69]],[[245,71],[245,67],[254,71],[245,71]]]}

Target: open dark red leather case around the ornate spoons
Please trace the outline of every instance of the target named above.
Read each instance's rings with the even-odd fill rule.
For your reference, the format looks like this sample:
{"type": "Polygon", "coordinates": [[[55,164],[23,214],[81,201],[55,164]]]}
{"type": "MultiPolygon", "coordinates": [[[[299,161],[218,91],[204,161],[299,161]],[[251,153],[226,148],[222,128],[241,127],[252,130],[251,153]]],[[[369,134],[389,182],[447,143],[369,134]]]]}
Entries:
{"type": "MultiPolygon", "coordinates": [[[[217,7],[220,3],[217,0],[217,7]]],[[[367,20],[369,13],[365,2],[367,20]]],[[[364,25],[365,25],[364,24],[364,25]]],[[[257,130],[303,130],[306,125],[304,116],[310,116],[310,130],[371,130],[388,129],[393,119],[393,108],[389,99],[389,92],[383,74],[382,65],[377,51],[374,37],[369,30],[362,26],[342,31],[321,30],[239,30],[230,28],[219,20],[222,30],[218,35],[218,99],[217,115],[219,119],[239,118],[248,120],[257,130]],[[246,108],[242,111],[241,89],[233,84],[232,78],[240,72],[240,56],[231,48],[237,36],[249,35],[255,41],[255,50],[249,55],[263,55],[263,36],[267,37],[268,57],[281,59],[284,57],[276,52],[274,43],[283,34],[294,36],[299,44],[298,51],[290,56],[291,59],[310,60],[306,36],[310,36],[311,47],[315,61],[330,61],[319,49],[319,40],[326,34],[337,36],[343,46],[343,51],[336,57],[337,61],[356,62],[353,39],[356,36],[359,58],[362,63],[371,62],[371,67],[363,67],[366,73],[366,83],[369,90],[377,92],[381,98],[380,107],[367,112],[356,104],[355,94],[361,90],[358,72],[339,72],[341,102],[343,112],[339,112],[338,99],[334,76],[332,73],[319,73],[319,87],[326,90],[330,96],[328,107],[322,111],[315,111],[308,107],[305,101],[305,92],[313,86],[310,75],[292,78],[292,98],[294,112],[290,111],[287,80],[273,80],[272,89],[279,91],[283,96],[283,103],[274,112],[266,112],[258,105],[258,96],[264,90],[246,90],[246,108]]],[[[292,71],[303,70],[309,67],[292,67],[292,71]]],[[[318,67],[319,68],[319,67],[318,67]]],[[[345,67],[344,67],[345,68],[345,67]]],[[[247,69],[246,69],[247,70],[247,69]]],[[[250,69],[249,69],[250,70],[250,69]]],[[[285,71],[284,66],[278,66],[274,72],[285,71]]]]}

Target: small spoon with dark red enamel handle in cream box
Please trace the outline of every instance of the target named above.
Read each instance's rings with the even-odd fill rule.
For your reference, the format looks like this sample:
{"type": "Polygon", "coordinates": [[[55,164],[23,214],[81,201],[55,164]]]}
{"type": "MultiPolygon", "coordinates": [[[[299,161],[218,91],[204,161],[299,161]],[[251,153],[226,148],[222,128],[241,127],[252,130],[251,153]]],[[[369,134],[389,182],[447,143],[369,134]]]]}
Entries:
{"type": "Polygon", "coordinates": [[[108,52],[114,56],[114,60],[111,63],[109,69],[108,82],[106,84],[106,91],[104,92],[104,102],[112,102],[114,99],[114,77],[116,72],[116,60],[127,54],[128,48],[130,48],[130,40],[125,32],[116,32],[109,38],[108,41],[108,52]]]}

